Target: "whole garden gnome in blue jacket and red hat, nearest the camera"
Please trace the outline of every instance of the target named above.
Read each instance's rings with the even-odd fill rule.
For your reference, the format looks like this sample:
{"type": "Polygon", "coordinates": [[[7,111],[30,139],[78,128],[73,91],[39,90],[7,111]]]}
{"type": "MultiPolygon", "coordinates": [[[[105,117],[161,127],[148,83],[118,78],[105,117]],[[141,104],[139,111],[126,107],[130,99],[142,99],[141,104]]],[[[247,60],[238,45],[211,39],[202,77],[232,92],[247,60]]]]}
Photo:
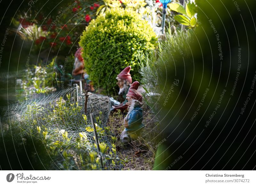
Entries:
{"type": "Polygon", "coordinates": [[[132,83],[128,93],[126,94],[126,105],[129,106],[129,112],[124,118],[124,131],[120,136],[122,143],[129,143],[131,139],[137,139],[140,135],[141,129],[144,127],[142,124],[142,95],[138,92],[139,82],[132,83]]]}

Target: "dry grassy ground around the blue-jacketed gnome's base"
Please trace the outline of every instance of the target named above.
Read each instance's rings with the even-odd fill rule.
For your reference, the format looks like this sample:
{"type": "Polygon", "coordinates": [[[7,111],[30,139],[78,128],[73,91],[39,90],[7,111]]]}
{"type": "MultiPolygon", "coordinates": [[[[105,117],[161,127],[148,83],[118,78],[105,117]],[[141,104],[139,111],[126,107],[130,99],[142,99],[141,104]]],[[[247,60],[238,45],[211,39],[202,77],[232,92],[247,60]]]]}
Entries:
{"type": "Polygon", "coordinates": [[[158,122],[148,109],[144,109],[143,124],[145,128],[142,130],[140,138],[124,145],[120,142],[120,134],[124,130],[124,117],[120,112],[115,112],[110,115],[108,120],[110,130],[117,137],[116,150],[123,162],[123,170],[152,170],[157,139],[161,138],[158,135],[158,122]]]}

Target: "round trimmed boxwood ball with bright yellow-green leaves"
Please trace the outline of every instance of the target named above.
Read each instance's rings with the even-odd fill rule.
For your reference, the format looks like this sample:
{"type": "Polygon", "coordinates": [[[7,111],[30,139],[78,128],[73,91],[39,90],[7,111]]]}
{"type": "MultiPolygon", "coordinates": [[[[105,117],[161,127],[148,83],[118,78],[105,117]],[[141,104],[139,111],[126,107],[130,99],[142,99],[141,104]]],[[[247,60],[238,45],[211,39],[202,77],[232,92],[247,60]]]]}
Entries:
{"type": "Polygon", "coordinates": [[[147,21],[133,10],[113,8],[92,20],[81,36],[84,66],[94,86],[113,95],[116,76],[132,66],[132,81],[140,81],[138,53],[156,47],[157,37],[147,21]]]}

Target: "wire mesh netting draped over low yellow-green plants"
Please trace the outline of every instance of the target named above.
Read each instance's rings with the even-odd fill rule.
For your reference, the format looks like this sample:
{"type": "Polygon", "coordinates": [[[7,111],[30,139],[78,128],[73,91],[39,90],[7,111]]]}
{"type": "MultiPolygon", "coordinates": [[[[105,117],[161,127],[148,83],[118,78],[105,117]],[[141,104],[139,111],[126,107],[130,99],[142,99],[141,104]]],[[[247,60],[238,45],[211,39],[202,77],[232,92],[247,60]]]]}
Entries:
{"type": "Polygon", "coordinates": [[[14,144],[16,153],[19,144],[22,144],[25,151],[26,146],[34,146],[37,154],[34,158],[40,159],[41,167],[47,170],[120,169],[113,144],[116,138],[107,127],[109,108],[108,97],[90,92],[85,105],[85,95],[80,94],[80,91],[76,94],[75,88],[9,105],[3,109],[1,117],[1,143],[4,144],[6,154],[6,146],[9,144],[14,144]],[[96,152],[89,113],[95,116],[103,167],[96,152]],[[28,144],[30,139],[32,143],[28,144]],[[43,144],[44,153],[36,149],[35,143],[38,141],[43,144]],[[39,156],[40,153],[43,155],[39,156]],[[47,162],[44,159],[48,159],[47,162]]]}

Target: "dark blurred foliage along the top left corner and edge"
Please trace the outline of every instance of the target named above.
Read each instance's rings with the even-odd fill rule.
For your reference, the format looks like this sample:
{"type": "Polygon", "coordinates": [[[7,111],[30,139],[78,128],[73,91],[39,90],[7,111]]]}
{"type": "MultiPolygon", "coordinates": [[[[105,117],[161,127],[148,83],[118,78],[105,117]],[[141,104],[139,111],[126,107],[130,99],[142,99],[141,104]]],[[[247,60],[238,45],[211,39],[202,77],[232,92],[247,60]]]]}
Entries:
{"type": "MultiPolygon", "coordinates": [[[[36,65],[36,62],[41,60],[39,55],[31,54],[31,43],[25,42],[17,34],[17,28],[21,15],[27,13],[30,17],[36,17],[39,15],[39,11],[42,15],[47,17],[51,14],[52,17],[56,16],[61,10],[61,7],[65,7],[69,4],[68,0],[61,1],[31,1],[31,0],[15,0],[15,1],[1,1],[0,2],[0,45],[3,48],[0,64],[0,107],[9,103],[8,97],[12,97],[15,94],[15,90],[9,89],[15,86],[15,78],[13,74],[17,74],[18,71],[22,71],[26,68],[26,61],[29,59],[29,64],[36,65]],[[34,3],[31,3],[34,2],[34,3]],[[31,6],[29,6],[31,4],[31,6]],[[56,8],[57,7],[57,8],[56,8]],[[4,43],[3,43],[4,42],[4,43]],[[4,45],[4,46],[3,46],[4,45]],[[9,77],[10,76],[10,77],[9,77]],[[7,80],[9,82],[7,82],[7,80]]],[[[17,74],[18,76],[18,74],[17,74]]],[[[19,79],[20,77],[18,77],[19,79]]]]}

